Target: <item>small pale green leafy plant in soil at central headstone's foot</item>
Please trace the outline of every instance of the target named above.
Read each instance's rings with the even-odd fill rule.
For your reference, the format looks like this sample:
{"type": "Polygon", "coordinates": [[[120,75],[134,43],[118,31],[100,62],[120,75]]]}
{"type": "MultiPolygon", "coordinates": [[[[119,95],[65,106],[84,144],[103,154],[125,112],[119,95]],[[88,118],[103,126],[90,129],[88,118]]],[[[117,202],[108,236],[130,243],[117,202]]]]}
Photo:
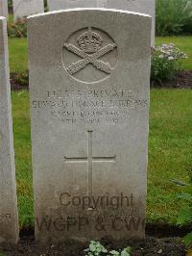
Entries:
{"type": "Polygon", "coordinates": [[[86,256],[130,256],[131,250],[131,247],[128,246],[122,251],[108,251],[108,249],[106,249],[100,242],[91,241],[88,248],[84,251],[88,253],[86,256]]]}

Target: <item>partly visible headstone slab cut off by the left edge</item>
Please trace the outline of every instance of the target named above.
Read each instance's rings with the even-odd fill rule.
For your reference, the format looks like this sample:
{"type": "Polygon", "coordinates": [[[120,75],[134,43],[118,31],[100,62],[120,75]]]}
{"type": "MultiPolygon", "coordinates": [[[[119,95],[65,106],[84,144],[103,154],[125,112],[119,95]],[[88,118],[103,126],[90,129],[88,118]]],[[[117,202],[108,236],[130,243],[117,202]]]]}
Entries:
{"type": "Polygon", "coordinates": [[[0,243],[16,243],[18,218],[6,18],[0,17],[0,243]]]}

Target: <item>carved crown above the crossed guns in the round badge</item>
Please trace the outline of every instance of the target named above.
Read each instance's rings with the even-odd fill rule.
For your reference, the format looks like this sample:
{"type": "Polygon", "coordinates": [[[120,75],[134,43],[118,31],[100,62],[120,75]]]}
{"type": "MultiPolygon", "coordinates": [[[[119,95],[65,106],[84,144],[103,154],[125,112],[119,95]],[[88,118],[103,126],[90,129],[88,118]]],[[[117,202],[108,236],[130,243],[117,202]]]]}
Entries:
{"type": "Polygon", "coordinates": [[[95,53],[101,48],[103,39],[89,27],[88,30],[78,38],[78,43],[85,53],[95,53]]]}

